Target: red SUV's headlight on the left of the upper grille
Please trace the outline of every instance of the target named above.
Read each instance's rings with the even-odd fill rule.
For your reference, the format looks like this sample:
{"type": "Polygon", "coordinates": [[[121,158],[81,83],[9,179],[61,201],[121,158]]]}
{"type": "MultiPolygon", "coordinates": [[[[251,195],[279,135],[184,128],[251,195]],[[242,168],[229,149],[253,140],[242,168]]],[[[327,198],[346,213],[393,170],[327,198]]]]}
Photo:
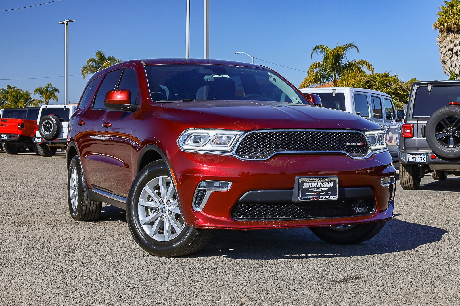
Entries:
{"type": "Polygon", "coordinates": [[[196,129],[185,130],[177,140],[181,150],[231,152],[242,131],[196,129]]]}

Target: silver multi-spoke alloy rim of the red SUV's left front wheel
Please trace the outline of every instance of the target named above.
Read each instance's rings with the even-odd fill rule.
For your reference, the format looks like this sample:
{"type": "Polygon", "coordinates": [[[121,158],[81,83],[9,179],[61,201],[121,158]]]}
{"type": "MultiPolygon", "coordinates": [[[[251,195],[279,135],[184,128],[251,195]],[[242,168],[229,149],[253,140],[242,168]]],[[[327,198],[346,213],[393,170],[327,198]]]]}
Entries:
{"type": "Polygon", "coordinates": [[[185,221],[171,177],[156,177],[144,186],[138,201],[138,218],[144,232],[157,241],[170,241],[184,230],[185,221]]]}

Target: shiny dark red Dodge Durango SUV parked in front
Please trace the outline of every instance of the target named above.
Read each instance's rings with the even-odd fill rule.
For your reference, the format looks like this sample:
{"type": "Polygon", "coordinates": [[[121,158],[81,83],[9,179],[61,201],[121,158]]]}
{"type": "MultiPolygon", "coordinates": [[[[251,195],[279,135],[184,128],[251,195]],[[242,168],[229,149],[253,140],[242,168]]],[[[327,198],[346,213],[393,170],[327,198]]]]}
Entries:
{"type": "Polygon", "coordinates": [[[316,98],[233,61],[135,60],[97,72],[69,124],[70,213],[90,221],[102,202],[126,209],[132,237],[157,256],[195,252],[215,228],[368,240],[393,218],[385,133],[316,98]]]}

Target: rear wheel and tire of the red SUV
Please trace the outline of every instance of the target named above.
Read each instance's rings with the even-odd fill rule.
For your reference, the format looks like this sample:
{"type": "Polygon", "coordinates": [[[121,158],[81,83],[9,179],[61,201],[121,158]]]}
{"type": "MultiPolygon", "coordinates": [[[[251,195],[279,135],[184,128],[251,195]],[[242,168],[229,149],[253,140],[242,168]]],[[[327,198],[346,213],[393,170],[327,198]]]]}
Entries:
{"type": "Polygon", "coordinates": [[[101,214],[102,202],[94,202],[88,198],[85,178],[78,156],[74,156],[69,164],[67,200],[69,201],[70,215],[76,221],[94,221],[101,214]]]}

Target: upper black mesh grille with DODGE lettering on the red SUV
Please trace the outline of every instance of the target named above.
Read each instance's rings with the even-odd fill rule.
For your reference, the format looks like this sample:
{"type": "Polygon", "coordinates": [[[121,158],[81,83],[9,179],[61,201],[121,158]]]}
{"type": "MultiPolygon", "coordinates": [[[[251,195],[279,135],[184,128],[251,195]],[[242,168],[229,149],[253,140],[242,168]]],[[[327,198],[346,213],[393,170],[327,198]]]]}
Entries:
{"type": "Polygon", "coordinates": [[[236,155],[262,159],[276,152],[346,152],[364,157],[368,150],[364,134],[354,131],[260,131],[247,134],[236,155]]]}

